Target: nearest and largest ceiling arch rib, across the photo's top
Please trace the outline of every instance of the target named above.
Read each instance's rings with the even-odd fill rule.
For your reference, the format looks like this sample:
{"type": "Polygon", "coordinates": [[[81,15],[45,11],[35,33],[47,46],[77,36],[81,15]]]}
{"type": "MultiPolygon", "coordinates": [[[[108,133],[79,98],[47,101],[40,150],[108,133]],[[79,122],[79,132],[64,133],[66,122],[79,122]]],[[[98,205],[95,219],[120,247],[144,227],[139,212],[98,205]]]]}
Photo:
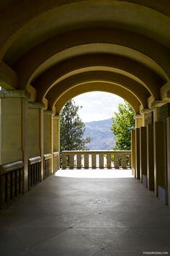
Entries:
{"type": "MultiPolygon", "coordinates": [[[[1,11],[1,22],[6,30],[0,38],[0,56],[12,50],[23,54],[58,31],[104,24],[105,27],[124,27],[126,30],[147,35],[161,44],[169,45],[169,18],[152,9],[152,5],[130,1],[14,1],[10,8],[1,11]],[[17,4],[16,4],[17,2],[17,4]],[[25,12],[27,9],[27,12],[25,12]],[[104,12],[103,12],[104,9],[104,12]],[[18,15],[16,15],[18,14],[18,15]],[[6,22],[10,17],[11,22],[6,22]],[[32,33],[28,33],[32,31],[32,33]],[[22,46],[22,47],[21,47],[22,46]]],[[[155,6],[155,5],[153,5],[155,6]]],[[[167,12],[167,9],[166,9],[167,12]]]]}

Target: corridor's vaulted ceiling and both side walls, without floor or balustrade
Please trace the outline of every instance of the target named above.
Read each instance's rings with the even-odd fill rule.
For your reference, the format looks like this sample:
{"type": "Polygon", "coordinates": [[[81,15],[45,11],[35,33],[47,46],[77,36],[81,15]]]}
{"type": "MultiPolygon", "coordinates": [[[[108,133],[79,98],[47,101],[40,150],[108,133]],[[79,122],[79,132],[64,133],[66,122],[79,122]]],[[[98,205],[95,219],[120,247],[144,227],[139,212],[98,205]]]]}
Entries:
{"type": "Polygon", "coordinates": [[[60,116],[100,90],[134,108],[135,178],[170,204],[170,4],[0,3],[0,208],[58,170],[60,116]]]}

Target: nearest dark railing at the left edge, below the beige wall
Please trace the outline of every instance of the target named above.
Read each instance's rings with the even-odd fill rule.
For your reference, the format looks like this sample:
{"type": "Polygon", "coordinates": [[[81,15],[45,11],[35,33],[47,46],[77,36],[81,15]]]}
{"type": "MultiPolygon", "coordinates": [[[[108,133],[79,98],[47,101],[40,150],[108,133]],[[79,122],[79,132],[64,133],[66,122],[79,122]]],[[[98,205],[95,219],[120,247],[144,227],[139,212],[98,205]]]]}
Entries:
{"type": "Polygon", "coordinates": [[[0,166],[0,208],[23,193],[22,161],[5,163],[0,166]]]}

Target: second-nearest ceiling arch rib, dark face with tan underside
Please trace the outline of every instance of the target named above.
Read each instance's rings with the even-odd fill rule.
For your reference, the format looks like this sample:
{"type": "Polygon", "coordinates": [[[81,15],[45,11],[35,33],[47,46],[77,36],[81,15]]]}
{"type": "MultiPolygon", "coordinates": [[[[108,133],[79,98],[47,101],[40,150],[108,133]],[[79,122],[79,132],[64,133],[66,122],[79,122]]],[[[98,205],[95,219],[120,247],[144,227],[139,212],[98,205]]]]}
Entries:
{"type": "MultiPolygon", "coordinates": [[[[170,51],[165,46],[138,33],[116,28],[94,27],[58,35],[32,48],[17,63],[13,64],[13,69],[19,74],[19,87],[23,89],[31,80],[58,63],[58,59],[62,61],[71,58],[75,54],[79,55],[80,51],[84,54],[89,54],[91,51],[109,54],[117,52],[120,55],[131,56],[137,61],[143,59],[143,64],[153,70],[156,69],[162,77],[167,79],[166,73],[170,77],[170,51]],[[93,43],[97,43],[94,50],[91,45],[93,43]],[[115,45],[115,49],[114,47],[109,48],[108,45],[105,45],[106,43],[115,45]],[[78,46],[81,48],[79,49],[78,46]],[[117,48],[117,46],[125,48],[117,48]],[[145,56],[148,57],[147,60],[145,56]]],[[[10,56],[10,59],[14,58],[10,56]]],[[[6,62],[10,61],[7,59],[6,62]]]]}

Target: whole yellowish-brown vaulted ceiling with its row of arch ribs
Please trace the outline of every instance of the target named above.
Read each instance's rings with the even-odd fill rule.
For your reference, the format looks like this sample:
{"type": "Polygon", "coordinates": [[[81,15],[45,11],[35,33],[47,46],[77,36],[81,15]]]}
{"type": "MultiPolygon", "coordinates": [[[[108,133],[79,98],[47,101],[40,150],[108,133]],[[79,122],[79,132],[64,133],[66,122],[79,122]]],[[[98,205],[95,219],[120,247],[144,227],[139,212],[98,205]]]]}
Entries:
{"type": "Polygon", "coordinates": [[[128,92],[136,112],[169,95],[169,0],[2,0],[0,14],[4,80],[48,108],[97,85],[128,92]]]}

